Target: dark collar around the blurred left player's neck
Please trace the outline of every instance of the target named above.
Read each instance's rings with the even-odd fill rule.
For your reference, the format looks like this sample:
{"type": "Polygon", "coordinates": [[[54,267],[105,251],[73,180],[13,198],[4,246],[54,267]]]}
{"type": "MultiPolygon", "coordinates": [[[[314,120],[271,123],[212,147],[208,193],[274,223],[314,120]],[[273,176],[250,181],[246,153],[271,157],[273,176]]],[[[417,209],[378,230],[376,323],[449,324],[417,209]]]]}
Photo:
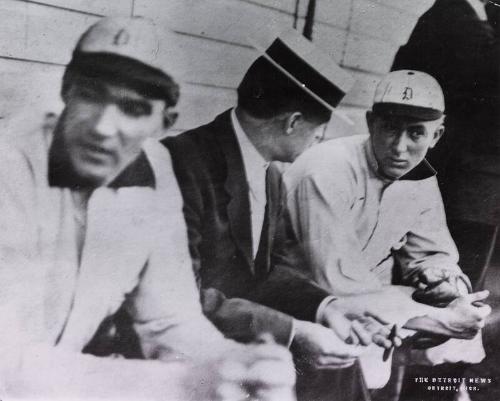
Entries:
{"type": "MultiPolygon", "coordinates": [[[[92,187],[88,180],[80,177],[74,170],[64,151],[64,141],[62,137],[55,137],[53,139],[49,149],[48,163],[49,186],[73,190],[92,187]]],[[[114,189],[134,186],[155,188],[155,175],[146,154],[141,152],[137,159],[129,164],[107,186],[114,189]]]]}

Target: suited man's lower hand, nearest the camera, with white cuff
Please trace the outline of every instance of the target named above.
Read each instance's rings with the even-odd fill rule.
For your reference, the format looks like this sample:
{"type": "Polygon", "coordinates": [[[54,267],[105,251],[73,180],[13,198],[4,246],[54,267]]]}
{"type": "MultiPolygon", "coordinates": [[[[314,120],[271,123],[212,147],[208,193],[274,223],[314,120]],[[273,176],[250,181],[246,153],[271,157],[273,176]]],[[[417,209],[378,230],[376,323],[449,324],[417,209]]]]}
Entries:
{"type": "Polygon", "coordinates": [[[365,348],[346,344],[333,330],[317,323],[295,320],[294,356],[316,369],[351,366],[365,348]]]}

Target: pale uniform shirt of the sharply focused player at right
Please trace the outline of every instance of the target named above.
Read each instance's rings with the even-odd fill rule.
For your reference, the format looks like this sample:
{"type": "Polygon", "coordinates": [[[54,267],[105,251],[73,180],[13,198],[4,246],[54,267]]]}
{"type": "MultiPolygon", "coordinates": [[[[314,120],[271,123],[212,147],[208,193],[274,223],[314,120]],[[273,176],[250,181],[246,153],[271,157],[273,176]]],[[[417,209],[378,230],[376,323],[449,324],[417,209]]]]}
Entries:
{"type": "MultiPolygon", "coordinates": [[[[334,295],[410,281],[426,267],[461,272],[434,170],[424,160],[403,179],[378,174],[368,136],[319,144],[284,175],[281,260],[334,295]]],[[[466,278],[464,278],[467,281],[466,278]]]]}

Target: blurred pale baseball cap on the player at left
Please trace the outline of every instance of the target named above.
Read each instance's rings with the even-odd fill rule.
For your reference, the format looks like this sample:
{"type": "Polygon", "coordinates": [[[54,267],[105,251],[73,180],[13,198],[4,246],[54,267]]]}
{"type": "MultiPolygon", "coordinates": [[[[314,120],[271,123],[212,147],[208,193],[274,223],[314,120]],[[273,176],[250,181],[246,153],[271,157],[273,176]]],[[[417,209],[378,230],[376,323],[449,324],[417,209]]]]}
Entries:
{"type": "Polygon", "coordinates": [[[179,51],[171,31],[142,17],[102,18],[81,36],[63,79],[63,93],[71,73],[126,85],[175,105],[179,88],[174,81],[179,51]]]}

